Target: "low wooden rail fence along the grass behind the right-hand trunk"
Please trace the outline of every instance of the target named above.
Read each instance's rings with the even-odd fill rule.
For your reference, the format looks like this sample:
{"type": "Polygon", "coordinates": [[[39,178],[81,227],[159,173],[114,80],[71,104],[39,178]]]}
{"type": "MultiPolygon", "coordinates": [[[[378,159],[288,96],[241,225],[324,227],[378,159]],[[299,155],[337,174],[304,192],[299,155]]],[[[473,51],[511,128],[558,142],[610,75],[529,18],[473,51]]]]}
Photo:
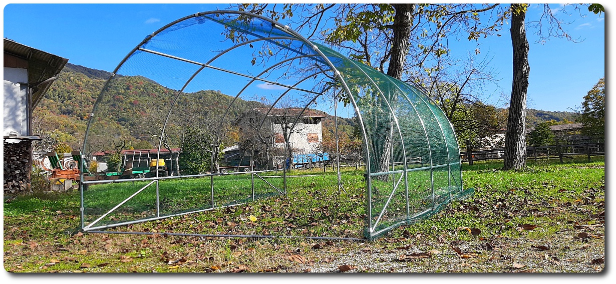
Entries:
{"type": "MultiPolygon", "coordinates": [[[[460,150],[463,151],[463,150],[460,150]]],[[[526,147],[526,159],[553,159],[559,158],[561,163],[563,158],[573,159],[573,156],[586,155],[590,162],[591,156],[606,155],[604,143],[586,143],[570,145],[551,145],[551,146],[529,146],[526,147]]],[[[492,150],[474,150],[471,152],[472,161],[484,161],[487,159],[502,159],[505,156],[505,149],[498,148],[492,150]]],[[[460,153],[460,159],[468,162],[468,152],[460,153]]]]}

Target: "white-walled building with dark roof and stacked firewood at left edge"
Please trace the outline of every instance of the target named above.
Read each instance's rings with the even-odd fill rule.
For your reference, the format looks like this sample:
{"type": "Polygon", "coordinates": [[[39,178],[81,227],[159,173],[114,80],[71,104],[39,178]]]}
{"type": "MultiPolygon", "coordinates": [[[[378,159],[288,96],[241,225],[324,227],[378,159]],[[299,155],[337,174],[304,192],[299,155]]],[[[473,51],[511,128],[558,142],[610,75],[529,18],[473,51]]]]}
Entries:
{"type": "Polygon", "coordinates": [[[30,191],[32,110],[68,59],[4,39],[4,193],[30,191]]]}

